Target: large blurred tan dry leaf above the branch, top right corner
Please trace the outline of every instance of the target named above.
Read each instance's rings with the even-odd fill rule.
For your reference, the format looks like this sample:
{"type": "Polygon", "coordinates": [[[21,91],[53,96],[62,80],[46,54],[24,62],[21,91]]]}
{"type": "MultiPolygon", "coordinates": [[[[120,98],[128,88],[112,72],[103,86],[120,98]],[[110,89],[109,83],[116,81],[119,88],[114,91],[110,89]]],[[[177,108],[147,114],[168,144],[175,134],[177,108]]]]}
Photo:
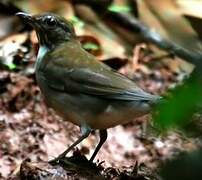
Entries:
{"type": "Polygon", "coordinates": [[[187,50],[201,53],[201,42],[175,1],[139,0],[138,5],[141,8],[141,20],[147,25],[187,50]]]}

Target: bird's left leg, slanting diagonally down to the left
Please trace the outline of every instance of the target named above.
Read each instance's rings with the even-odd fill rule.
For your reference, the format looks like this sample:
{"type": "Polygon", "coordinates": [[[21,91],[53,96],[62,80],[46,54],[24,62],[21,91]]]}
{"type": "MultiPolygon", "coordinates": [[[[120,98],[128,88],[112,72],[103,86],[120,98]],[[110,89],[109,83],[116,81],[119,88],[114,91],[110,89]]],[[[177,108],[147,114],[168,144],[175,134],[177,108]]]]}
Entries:
{"type": "Polygon", "coordinates": [[[66,154],[71,151],[77,144],[79,144],[80,142],[82,142],[85,138],[87,138],[89,136],[89,134],[91,133],[91,129],[88,127],[81,127],[81,137],[79,137],[71,146],[69,146],[63,153],[61,153],[58,157],[56,157],[53,160],[50,160],[49,163],[57,163],[59,160],[63,159],[66,154]]]}

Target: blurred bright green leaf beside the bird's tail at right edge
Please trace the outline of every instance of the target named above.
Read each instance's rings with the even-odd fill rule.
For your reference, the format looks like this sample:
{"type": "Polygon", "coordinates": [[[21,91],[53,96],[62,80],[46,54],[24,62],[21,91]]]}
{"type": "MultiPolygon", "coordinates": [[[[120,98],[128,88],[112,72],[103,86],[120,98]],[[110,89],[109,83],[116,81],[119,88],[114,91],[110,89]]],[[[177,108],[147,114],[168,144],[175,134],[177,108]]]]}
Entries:
{"type": "Polygon", "coordinates": [[[185,128],[202,102],[202,83],[193,76],[171,92],[171,97],[157,106],[154,123],[160,130],[185,128]]]}

